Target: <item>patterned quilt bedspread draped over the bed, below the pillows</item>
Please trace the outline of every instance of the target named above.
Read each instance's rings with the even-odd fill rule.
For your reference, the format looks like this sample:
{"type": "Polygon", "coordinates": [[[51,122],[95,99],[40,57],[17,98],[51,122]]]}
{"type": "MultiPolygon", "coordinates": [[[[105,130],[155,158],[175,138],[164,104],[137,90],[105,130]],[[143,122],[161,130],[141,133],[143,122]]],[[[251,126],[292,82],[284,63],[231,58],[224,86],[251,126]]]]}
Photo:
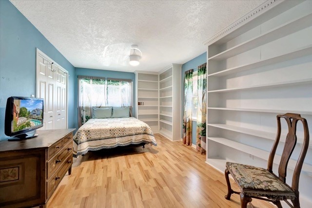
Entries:
{"type": "Polygon", "coordinates": [[[94,118],[83,124],[74,135],[74,157],[88,151],[133,144],[157,146],[151,128],[134,117],[94,118]]]}

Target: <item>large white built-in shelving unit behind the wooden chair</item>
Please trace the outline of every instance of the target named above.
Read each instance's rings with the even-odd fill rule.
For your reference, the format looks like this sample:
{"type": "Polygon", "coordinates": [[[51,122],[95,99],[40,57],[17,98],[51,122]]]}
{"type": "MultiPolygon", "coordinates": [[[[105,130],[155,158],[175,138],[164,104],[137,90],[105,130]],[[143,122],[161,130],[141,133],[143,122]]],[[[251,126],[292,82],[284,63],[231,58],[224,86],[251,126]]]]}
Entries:
{"type": "MultiPolygon", "coordinates": [[[[205,43],[208,164],[222,172],[226,161],[266,168],[277,114],[301,114],[312,135],[311,37],[312,1],[269,0],[205,43]]],[[[275,173],[287,132],[282,120],[275,173]]],[[[300,122],[297,136],[288,184],[302,147],[300,122]]],[[[312,142],[300,176],[302,207],[312,207],[311,187],[312,142]]]]}

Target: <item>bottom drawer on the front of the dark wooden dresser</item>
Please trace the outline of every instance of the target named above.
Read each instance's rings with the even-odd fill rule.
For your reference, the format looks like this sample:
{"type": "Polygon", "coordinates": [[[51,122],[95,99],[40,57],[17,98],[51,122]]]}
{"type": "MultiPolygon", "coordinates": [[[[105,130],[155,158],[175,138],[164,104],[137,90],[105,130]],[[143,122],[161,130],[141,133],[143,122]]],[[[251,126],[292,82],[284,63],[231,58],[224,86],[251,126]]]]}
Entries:
{"type": "Polygon", "coordinates": [[[47,198],[49,198],[52,195],[53,191],[57,188],[59,182],[62,180],[62,178],[66,174],[66,171],[71,167],[72,164],[73,164],[73,155],[69,155],[65,159],[63,165],[47,181],[47,198]]]}

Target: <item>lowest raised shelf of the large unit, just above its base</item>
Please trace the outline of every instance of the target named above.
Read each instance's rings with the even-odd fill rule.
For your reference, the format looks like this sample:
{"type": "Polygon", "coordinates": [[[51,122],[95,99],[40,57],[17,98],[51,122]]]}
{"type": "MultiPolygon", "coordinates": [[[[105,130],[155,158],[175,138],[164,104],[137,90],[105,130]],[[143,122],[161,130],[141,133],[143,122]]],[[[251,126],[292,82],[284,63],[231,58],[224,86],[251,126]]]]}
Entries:
{"type": "MultiPolygon", "coordinates": [[[[258,148],[254,148],[252,146],[245,145],[245,144],[242,144],[239,142],[235,142],[235,141],[232,141],[232,140],[229,140],[226,138],[208,137],[208,139],[211,141],[217,142],[219,144],[228,146],[230,148],[234,148],[238,151],[242,151],[242,152],[245,152],[247,154],[254,155],[254,156],[261,158],[261,159],[264,159],[266,161],[269,159],[270,152],[268,152],[268,151],[260,150],[258,148]]],[[[275,154],[273,163],[279,165],[280,160],[281,160],[281,156],[278,154],[275,154]]],[[[288,168],[291,170],[294,170],[296,163],[297,163],[296,160],[290,159],[288,162],[288,168]]],[[[312,173],[312,165],[304,163],[302,166],[302,171],[312,173]]]]}

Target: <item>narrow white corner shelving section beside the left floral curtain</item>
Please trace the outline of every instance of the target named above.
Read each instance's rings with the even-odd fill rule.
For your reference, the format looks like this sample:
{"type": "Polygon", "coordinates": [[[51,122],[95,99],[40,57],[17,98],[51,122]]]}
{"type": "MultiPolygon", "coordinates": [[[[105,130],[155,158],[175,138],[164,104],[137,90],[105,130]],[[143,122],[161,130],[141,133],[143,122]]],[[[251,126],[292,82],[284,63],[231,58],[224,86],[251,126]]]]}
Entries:
{"type": "Polygon", "coordinates": [[[181,139],[181,64],[172,64],[159,73],[159,133],[181,139]]]}

